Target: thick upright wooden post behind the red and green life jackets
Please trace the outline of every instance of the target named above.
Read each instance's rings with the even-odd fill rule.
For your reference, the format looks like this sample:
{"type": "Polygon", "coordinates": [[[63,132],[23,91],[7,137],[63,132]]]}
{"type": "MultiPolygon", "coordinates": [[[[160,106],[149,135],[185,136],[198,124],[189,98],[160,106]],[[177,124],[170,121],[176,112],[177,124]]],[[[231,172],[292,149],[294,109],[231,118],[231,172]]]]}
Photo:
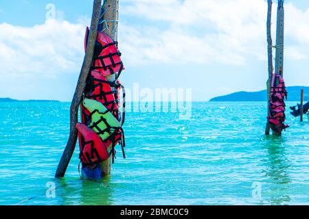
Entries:
{"type": "MultiPolygon", "coordinates": [[[[102,11],[105,12],[102,20],[106,21],[107,29],[104,30],[106,34],[111,36],[113,40],[117,41],[118,36],[118,19],[119,19],[119,0],[105,0],[102,7],[102,11]]],[[[105,28],[106,25],[102,25],[100,28],[105,28]]],[[[106,79],[108,81],[115,81],[116,75],[108,75],[106,79]]],[[[111,146],[108,150],[111,149],[111,146]]],[[[102,162],[102,175],[111,175],[111,157],[102,162]]]]}

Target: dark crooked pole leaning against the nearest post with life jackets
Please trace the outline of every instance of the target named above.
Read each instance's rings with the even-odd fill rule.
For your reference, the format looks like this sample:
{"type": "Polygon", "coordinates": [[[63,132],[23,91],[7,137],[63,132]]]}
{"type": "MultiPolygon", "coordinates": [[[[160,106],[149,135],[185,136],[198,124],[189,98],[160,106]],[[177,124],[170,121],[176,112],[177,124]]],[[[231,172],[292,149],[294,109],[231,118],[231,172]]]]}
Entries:
{"type": "Polygon", "coordinates": [[[84,55],[84,62],[82,63],[82,69],[80,70],[80,76],[78,77],[78,83],[76,86],[76,90],[73,95],[73,100],[71,102],[70,107],[70,134],[69,139],[67,141],[67,146],[65,147],[65,151],[62,154],[60,162],[58,164],[58,168],[56,170],[55,177],[64,177],[65,171],[67,170],[67,166],[71,160],[73,155],[78,131],[76,130],[76,123],[78,122],[78,107],[80,102],[82,101],[82,94],[84,92],[84,88],[86,86],[86,79],[90,70],[92,58],[93,58],[93,50],[95,47],[95,40],[98,34],[98,23],[101,12],[101,3],[102,0],[94,0],[93,1],[93,14],[91,18],[91,26],[89,31],[89,38],[87,42],[87,51],[84,55]]]}

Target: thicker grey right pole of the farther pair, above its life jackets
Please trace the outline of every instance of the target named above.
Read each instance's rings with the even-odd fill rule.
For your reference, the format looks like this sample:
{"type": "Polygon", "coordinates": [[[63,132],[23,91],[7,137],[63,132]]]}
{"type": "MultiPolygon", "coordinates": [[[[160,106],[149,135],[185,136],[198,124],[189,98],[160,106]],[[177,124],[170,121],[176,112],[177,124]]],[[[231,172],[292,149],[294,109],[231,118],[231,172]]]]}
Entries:
{"type": "MultiPolygon", "coordinates": [[[[275,73],[283,77],[284,72],[284,0],[278,0],[277,36],[276,36],[275,73]]],[[[275,81],[278,83],[279,81],[275,81]]],[[[273,131],[273,135],[281,136],[282,132],[273,131]]]]}

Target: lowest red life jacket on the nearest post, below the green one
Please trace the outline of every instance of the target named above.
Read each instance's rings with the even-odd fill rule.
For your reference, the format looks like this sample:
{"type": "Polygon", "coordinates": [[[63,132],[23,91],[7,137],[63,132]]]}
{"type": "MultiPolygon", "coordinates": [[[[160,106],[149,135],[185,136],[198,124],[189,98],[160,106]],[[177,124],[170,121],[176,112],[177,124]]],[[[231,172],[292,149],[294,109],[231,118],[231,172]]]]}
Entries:
{"type": "Polygon", "coordinates": [[[93,165],[108,159],[108,145],[102,142],[95,131],[82,123],[76,123],[76,129],[78,129],[80,161],[82,164],[93,165]]]}

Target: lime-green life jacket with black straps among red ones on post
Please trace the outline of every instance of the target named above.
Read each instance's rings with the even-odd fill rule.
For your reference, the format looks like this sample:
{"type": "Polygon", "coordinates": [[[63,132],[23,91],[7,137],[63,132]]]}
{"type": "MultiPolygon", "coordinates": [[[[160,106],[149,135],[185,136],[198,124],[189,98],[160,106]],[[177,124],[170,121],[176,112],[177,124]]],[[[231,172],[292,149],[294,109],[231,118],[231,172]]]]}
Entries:
{"type": "Polygon", "coordinates": [[[86,98],[82,101],[82,104],[90,112],[91,123],[89,128],[98,133],[103,141],[111,136],[115,130],[121,129],[122,125],[119,121],[99,101],[86,98]]]}

